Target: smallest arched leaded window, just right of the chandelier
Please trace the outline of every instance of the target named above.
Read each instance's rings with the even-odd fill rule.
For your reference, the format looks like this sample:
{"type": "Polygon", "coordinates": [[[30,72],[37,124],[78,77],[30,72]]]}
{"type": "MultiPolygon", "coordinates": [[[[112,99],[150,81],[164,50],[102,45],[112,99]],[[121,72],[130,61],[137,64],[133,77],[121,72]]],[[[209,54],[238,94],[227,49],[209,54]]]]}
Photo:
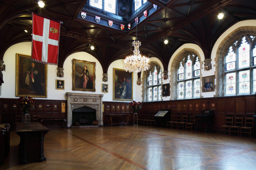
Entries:
{"type": "Polygon", "coordinates": [[[161,74],[161,68],[158,65],[150,66],[150,70],[147,74],[147,102],[161,101],[161,74]]]}

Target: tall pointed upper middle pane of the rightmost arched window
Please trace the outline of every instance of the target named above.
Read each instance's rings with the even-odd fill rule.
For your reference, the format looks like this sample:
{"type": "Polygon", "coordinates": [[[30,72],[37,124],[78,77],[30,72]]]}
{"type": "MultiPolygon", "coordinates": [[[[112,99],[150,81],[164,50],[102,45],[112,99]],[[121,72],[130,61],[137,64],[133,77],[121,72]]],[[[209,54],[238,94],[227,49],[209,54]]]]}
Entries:
{"type": "Polygon", "coordinates": [[[238,49],[238,68],[250,66],[250,45],[243,37],[242,44],[238,49]]]}

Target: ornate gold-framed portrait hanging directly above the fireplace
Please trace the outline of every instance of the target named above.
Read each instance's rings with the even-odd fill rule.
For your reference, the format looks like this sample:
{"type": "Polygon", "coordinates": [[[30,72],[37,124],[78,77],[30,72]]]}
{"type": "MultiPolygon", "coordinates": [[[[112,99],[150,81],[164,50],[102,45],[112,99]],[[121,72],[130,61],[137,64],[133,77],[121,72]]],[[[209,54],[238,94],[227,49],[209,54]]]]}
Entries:
{"type": "Polygon", "coordinates": [[[96,62],[73,59],[72,90],[95,92],[96,62]]]}

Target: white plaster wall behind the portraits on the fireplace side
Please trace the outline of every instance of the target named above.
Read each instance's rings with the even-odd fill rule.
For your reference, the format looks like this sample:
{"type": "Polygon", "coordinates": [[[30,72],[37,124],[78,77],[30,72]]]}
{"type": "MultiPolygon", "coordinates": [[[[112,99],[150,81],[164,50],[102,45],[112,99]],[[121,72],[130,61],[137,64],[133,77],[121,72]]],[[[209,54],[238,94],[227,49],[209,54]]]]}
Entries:
{"type": "MultiPolygon", "coordinates": [[[[1,86],[1,98],[19,98],[16,97],[16,53],[31,55],[31,42],[18,43],[6,50],[4,54],[4,64],[6,65],[6,71],[3,72],[4,83],[1,86]]],[[[93,57],[91,54],[85,52],[78,52],[71,54],[67,57],[64,62],[64,77],[57,77],[57,66],[56,65],[47,65],[47,98],[41,99],[58,99],[66,100],[66,92],[73,93],[90,93],[90,94],[104,94],[103,101],[113,101],[113,68],[123,69],[124,62],[123,60],[116,60],[110,64],[108,69],[108,82],[102,81],[102,67],[100,62],[93,57]],[[90,91],[72,91],[72,59],[86,60],[90,62],[96,62],[95,66],[95,89],[96,92],[90,91]],[[64,90],[60,91],[55,89],[55,80],[61,79],[65,82],[64,90]],[[101,84],[109,84],[109,92],[101,92],[101,84]]],[[[142,101],[141,97],[141,86],[136,84],[137,74],[133,74],[133,100],[142,101]]],[[[36,97],[39,99],[40,97],[36,97]]],[[[119,101],[120,102],[120,101],[119,101]]],[[[127,102],[127,101],[124,101],[127,102]]]]}

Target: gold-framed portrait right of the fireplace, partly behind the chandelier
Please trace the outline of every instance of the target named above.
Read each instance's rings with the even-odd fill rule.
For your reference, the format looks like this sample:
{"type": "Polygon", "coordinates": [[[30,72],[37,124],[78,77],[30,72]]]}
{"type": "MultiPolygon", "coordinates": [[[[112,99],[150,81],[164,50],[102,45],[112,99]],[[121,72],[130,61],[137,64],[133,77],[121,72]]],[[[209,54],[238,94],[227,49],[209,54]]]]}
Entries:
{"type": "Polygon", "coordinates": [[[132,100],[133,73],[114,68],[113,100],[132,100]]]}

